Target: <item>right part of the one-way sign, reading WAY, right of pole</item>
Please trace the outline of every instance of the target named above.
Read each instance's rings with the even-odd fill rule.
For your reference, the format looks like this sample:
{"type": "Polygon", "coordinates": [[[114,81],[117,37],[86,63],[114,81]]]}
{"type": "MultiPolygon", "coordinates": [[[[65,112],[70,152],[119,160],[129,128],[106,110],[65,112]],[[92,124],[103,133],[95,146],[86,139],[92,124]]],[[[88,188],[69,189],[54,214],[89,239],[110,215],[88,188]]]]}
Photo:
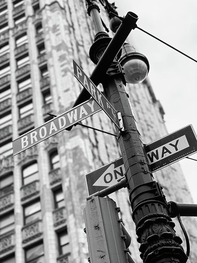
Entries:
{"type": "Polygon", "coordinates": [[[197,137],[192,125],[172,132],[145,146],[152,172],[177,162],[197,151],[197,137]]]}

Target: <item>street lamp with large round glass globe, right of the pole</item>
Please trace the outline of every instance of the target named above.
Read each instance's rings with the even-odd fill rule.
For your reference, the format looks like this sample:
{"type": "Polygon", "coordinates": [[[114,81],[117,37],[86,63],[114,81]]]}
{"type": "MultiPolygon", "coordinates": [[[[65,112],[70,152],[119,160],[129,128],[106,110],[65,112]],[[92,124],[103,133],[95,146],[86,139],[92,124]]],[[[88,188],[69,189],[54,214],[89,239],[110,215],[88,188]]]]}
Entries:
{"type": "Polygon", "coordinates": [[[134,47],[128,43],[122,46],[122,55],[119,63],[123,67],[125,80],[128,83],[136,84],[142,82],[149,72],[149,62],[147,58],[135,51],[134,47]]]}

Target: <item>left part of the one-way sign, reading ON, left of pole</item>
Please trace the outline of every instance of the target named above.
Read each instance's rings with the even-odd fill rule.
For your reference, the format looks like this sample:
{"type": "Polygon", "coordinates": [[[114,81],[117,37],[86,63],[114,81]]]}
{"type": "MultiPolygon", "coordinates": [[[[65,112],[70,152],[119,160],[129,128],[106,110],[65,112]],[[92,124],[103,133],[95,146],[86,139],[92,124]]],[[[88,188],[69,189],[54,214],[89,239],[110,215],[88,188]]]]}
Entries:
{"type": "Polygon", "coordinates": [[[119,158],[86,174],[89,195],[118,183],[125,176],[123,159],[119,158]]]}

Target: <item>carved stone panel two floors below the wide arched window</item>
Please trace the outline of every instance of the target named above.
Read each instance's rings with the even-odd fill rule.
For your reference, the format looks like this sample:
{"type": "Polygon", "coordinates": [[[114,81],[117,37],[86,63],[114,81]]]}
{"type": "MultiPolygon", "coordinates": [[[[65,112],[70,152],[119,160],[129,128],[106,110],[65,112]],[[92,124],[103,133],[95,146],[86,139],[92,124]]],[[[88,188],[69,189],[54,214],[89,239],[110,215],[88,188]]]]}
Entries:
{"type": "Polygon", "coordinates": [[[22,228],[22,243],[37,238],[42,234],[42,222],[39,220],[22,228]]]}

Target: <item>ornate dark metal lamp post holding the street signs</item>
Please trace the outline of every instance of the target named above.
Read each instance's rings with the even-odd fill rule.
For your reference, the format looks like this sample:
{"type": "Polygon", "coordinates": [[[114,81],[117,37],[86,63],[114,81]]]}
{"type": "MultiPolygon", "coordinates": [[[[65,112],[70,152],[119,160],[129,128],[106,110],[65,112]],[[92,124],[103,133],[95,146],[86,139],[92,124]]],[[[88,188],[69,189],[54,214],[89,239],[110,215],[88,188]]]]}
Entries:
{"type": "MultiPolygon", "coordinates": [[[[91,2],[94,2],[94,5],[97,4],[96,1],[88,0],[88,5],[91,2]]],[[[96,24],[97,19],[93,22],[96,24]]],[[[95,26],[95,28],[98,27],[95,26]]],[[[118,28],[119,31],[120,28],[121,26],[118,28]]],[[[120,41],[118,39],[117,43],[120,41]]],[[[114,46],[113,49],[115,50],[114,46]]],[[[94,63],[99,64],[101,52],[98,52],[98,46],[95,43],[90,51],[90,58],[93,58],[94,63]]],[[[122,68],[117,61],[113,61],[107,69],[107,74],[104,73],[106,72],[100,76],[100,82],[103,84],[109,102],[121,112],[125,128],[124,132],[116,128],[116,133],[125,165],[125,177],[130,189],[130,203],[136,225],[137,241],[141,244],[140,257],[144,263],[185,263],[188,258],[181,246],[182,240],[175,235],[175,224],[169,216],[165,195],[159,184],[154,181],[147,160],[128,94],[124,88],[125,78],[122,68]]]]}

